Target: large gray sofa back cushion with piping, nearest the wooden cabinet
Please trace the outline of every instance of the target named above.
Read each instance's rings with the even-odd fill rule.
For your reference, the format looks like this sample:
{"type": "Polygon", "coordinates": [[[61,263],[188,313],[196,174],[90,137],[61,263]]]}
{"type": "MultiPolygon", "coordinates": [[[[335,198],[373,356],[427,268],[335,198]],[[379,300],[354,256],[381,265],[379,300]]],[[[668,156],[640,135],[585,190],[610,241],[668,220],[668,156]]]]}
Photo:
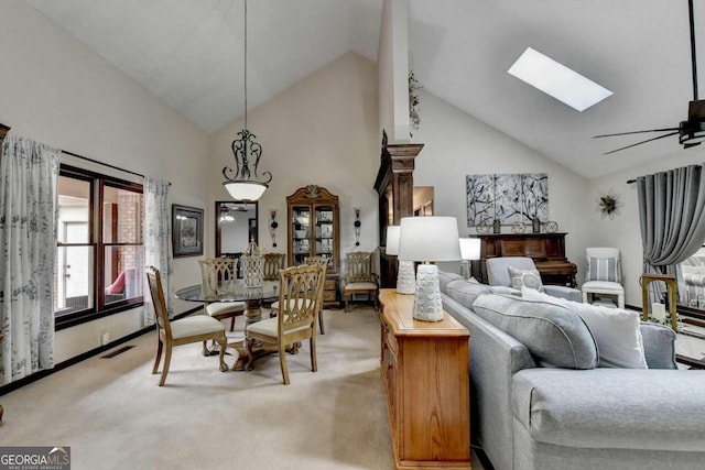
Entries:
{"type": "Polygon", "coordinates": [[[477,315],[521,341],[542,367],[593,369],[597,346],[575,311],[546,302],[485,294],[473,304],[477,315]]]}

